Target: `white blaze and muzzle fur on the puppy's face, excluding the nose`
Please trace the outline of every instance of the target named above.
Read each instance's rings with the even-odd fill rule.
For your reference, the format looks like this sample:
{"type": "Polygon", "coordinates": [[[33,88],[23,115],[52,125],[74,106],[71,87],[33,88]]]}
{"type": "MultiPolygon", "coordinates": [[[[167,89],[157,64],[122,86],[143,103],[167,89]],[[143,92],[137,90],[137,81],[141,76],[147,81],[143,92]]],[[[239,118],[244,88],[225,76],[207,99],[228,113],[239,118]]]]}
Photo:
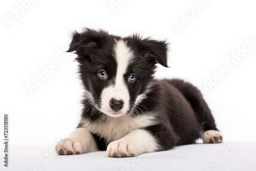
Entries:
{"type": "MultiPolygon", "coordinates": [[[[127,66],[132,61],[134,54],[130,48],[128,48],[123,40],[116,41],[114,48],[114,56],[117,62],[117,71],[114,84],[103,89],[101,94],[101,112],[112,116],[118,117],[124,115],[129,109],[130,95],[128,88],[125,84],[123,75],[127,70],[127,66]],[[123,100],[124,105],[120,111],[120,114],[113,114],[114,111],[110,108],[110,100],[114,98],[116,100],[123,100]]],[[[112,70],[110,68],[110,70],[112,70]]]]}

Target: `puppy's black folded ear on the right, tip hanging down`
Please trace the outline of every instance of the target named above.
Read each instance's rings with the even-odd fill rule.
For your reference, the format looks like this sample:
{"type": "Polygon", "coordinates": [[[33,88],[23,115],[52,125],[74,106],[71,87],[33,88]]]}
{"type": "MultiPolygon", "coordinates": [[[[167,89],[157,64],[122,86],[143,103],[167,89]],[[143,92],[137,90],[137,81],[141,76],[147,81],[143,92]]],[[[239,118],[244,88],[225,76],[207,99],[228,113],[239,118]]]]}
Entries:
{"type": "Polygon", "coordinates": [[[142,39],[144,55],[150,58],[148,61],[156,60],[160,65],[167,65],[168,43],[166,41],[158,41],[151,38],[142,39]]]}

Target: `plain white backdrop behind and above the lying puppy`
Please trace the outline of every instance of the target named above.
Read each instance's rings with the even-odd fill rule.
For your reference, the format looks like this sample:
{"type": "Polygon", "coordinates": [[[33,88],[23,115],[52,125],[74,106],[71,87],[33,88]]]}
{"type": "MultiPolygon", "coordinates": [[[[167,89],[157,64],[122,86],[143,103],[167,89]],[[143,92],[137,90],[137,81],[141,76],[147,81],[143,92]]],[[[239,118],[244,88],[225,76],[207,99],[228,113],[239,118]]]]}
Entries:
{"type": "Polygon", "coordinates": [[[256,44],[236,64],[227,61],[245,39],[256,41],[254,1],[205,0],[195,16],[190,6],[199,1],[119,1],[114,9],[110,2],[35,1],[24,12],[20,1],[1,2],[0,114],[1,125],[3,114],[10,115],[11,145],[55,146],[77,126],[83,90],[75,55],[63,51],[72,31],[83,27],[166,39],[171,68],[159,66],[156,77],[183,78],[202,91],[215,79],[212,72],[226,66],[204,97],[225,142],[256,141],[256,44]],[[13,10],[20,14],[8,26],[13,10]],[[175,22],[187,14],[188,24],[178,31],[175,22]],[[57,67],[30,92],[27,84],[53,61],[57,67]]]}

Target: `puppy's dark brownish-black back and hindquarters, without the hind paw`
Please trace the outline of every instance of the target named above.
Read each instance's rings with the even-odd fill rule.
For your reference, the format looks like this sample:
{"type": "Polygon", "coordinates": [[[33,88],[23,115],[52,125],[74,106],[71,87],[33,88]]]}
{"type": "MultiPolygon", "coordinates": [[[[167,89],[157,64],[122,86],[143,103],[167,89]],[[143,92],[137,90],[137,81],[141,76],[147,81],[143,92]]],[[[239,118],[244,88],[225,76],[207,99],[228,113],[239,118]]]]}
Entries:
{"type": "Polygon", "coordinates": [[[177,135],[177,145],[195,143],[208,130],[218,131],[201,92],[181,79],[156,80],[160,87],[160,111],[168,115],[177,135]]]}

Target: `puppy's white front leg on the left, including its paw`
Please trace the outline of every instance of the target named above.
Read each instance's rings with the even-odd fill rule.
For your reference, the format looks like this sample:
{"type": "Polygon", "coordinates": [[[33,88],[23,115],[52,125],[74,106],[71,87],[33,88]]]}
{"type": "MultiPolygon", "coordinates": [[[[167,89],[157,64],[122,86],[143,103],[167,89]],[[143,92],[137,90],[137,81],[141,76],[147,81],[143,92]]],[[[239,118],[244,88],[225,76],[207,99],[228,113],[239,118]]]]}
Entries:
{"type": "Polygon", "coordinates": [[[97,145],[90,131],[79,127],[70,134],[69,138],[60,140],[55,151],[59,155],[83,154],[97,151],[97,145]]]}

